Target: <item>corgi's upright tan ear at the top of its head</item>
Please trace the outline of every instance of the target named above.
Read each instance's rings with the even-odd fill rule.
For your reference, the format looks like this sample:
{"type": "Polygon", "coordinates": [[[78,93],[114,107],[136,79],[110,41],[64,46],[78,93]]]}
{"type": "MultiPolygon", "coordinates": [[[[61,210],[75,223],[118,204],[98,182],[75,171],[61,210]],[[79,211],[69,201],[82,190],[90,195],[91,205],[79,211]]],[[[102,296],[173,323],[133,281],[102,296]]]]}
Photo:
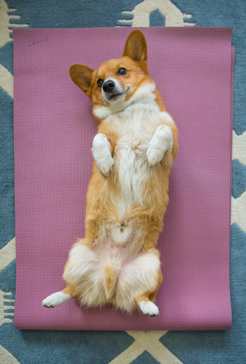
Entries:
{"type": "Polygon", "coordinates": [[[124,46],[123,57],[128,56],[136,62],[148,62],[147,43],[143,33],[136,29],[128,36],[124,46]]]}

